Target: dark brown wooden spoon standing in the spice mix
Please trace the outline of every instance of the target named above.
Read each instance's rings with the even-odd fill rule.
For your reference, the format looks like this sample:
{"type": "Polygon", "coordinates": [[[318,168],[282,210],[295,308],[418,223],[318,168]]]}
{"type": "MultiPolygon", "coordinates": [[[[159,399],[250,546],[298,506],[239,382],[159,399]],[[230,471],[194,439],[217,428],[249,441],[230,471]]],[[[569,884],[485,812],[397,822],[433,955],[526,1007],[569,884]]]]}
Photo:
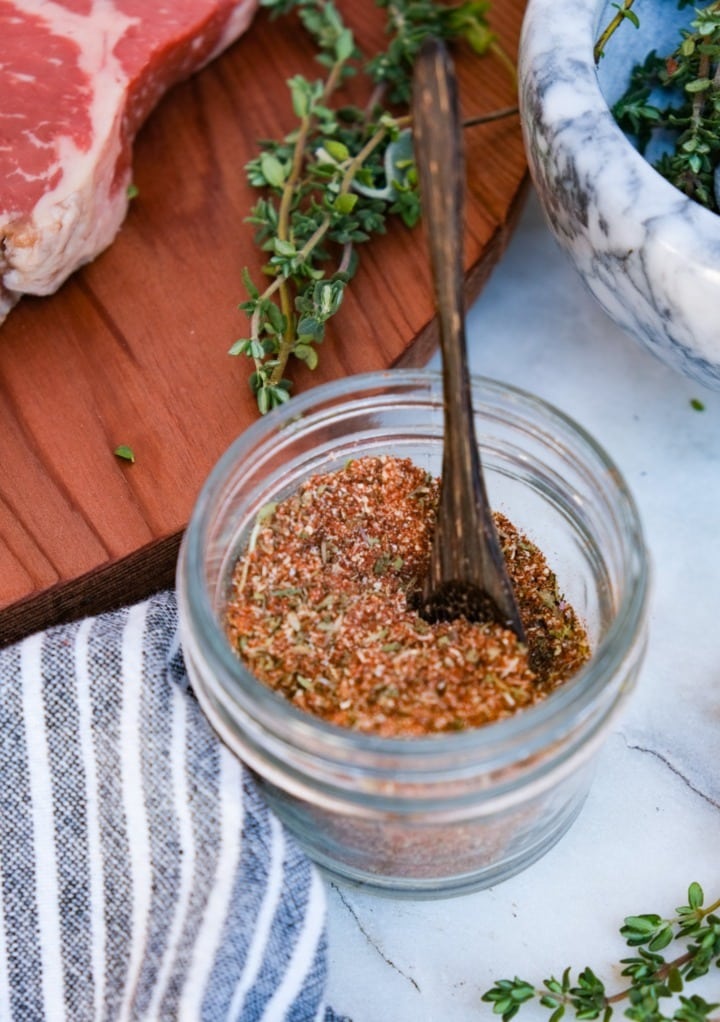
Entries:
{"type": "Polygon", "coordinates": [[[421,613],[524,630],[500,550],[475,435],[463,301],[465,161],[458,85],[442,42],[425,40],[413,82],[413,136],[442,355],[444,440],[437,524],[421,613]]]}

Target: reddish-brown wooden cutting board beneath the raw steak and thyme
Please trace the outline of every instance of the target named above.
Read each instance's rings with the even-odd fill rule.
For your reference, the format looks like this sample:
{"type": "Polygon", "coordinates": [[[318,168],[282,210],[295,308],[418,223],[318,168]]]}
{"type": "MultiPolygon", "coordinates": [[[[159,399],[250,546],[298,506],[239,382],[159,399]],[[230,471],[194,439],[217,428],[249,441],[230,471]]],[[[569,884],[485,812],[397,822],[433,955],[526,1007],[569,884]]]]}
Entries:
{"type": "MultiPolygon", "coordinates": [[[[524,0],[494,0],[517,54],[524,0]]],[[[339,6],[366,53],[384,12],[339,6]]],[[[493,58],[459,53],[467,117],[514,104],[493,58]]],[[[23,298],[0,327],[0,645],[172,585],[182,530],[205,476],[257,415],[240,271],[260,260],[243,222],[243,167],[261,138],[293,128],[285,86],[318,77],[293,17],[257,15],[235,46],[176,87],[136,142],[139,197],[113,244],[54,295],[23,298]],[[136,462],[113,455],[130,445],[136,462]]],[[[526,165],[517,117],[466,131],[467,293],[474,298],[519,213],[526,165]]],[[[420,366],[433,353],[427,248],[399,222],[361,253],[315,373],[420,366]]]]}

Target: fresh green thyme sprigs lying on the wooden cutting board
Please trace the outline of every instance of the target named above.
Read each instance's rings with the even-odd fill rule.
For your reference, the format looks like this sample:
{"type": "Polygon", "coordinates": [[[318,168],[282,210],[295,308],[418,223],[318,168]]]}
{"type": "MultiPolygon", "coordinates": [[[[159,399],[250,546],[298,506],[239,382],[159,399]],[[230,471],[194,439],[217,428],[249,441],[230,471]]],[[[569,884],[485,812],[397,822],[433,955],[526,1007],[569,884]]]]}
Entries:
{"type": "MultiPolygon", "coordinates": [[[[291,359],[317,366],[326,324],[356,270],[357,246],[384,233],[390,216],[407,227],[420,217],[406,107],[422,40],[429,34],[463,38],[477,53],[498,55],[513,76],[515,69],[488,27],[490,0],[376,0],[387,9],[389,43],[371,59],[359,53],[332,0],[260,2],[274,15],[297,12],[325,68],[322,80],[289,80],[297,124],[282,141],[262,143],[246,167],[251,185],[262,191],[248,221],[268,253],[270,283],[259,285],[243,270],[248,297],[240,309],[249,335],[230,354],[252,360],[250,386],[266,413],[290,396],[291,359]],[[368,104],[343,104],[344,83],[361,74],[369,80],[368,104]]],[[[513,112],[517,108],[499,111],[513,112]]]]}

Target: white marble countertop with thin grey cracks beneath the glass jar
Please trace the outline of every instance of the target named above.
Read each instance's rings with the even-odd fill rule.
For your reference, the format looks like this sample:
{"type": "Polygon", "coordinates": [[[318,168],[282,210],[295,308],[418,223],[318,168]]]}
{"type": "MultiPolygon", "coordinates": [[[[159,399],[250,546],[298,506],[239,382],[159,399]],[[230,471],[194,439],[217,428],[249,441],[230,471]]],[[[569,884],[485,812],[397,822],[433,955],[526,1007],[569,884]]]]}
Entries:
{"type": "MultiPolygon", "coordinates": [[[[611,323],[534,195],[471,311],[469,340],[473,372],[556,404],[624,472],[653,560],[650,648],[579,820],[543,860],[454,899],[330,888],[328,1000],[352,1022],[491,1019],[480,997],[496,979],[539,983],[567,965],[619,989],[624,916],[671,915],[693,880],[720,896],[720,392],[611,323]]],[[[717,971],[692,992],[719,1001],[717,971]]],[[[519,1020],[547,1017],[533,1008],[519,1020]]]]}

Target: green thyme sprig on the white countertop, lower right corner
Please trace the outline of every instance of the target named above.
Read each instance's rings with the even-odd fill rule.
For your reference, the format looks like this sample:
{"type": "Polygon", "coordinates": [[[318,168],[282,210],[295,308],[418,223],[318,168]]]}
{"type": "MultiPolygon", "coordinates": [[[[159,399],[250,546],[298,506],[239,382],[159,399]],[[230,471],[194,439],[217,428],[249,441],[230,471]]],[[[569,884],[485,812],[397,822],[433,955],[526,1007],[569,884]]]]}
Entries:
{"type": "Polygon", "coordinates": [[[608,1022],[616,1006],[623,1002],[627,1003],[624,1015],[633,1022],[719,1022],[711,1014],[720,1003],[683,994],[687,983],[711,969],[720,969],[720,898],[707,907],[704,901],[703,888],[692,883],[687,903],[676,909],[673,918],[646,914],[625,919],[620,933],[629,947],[637,948],[637,954],[621,959],[621,975],[629,983],[617,993],[608,994],[604,981],[591,969],[583,969],[573,979],[568,968],[560,979],[550,976],[539,987],[517,976],[500,979],[482,1000],[492,1005],[502,1022],[510,1022],[530,1002],[547,1009],[549,1022],[559,1022],[566,1012],[573,1013],[576,1019],[602,1017],[608,1022]],[[671,944],[677,954],[667,960],[662,951],[671,944]],[[674,1008],[672,1015],[667,1014],[668,1007],[674,1008]]]}

